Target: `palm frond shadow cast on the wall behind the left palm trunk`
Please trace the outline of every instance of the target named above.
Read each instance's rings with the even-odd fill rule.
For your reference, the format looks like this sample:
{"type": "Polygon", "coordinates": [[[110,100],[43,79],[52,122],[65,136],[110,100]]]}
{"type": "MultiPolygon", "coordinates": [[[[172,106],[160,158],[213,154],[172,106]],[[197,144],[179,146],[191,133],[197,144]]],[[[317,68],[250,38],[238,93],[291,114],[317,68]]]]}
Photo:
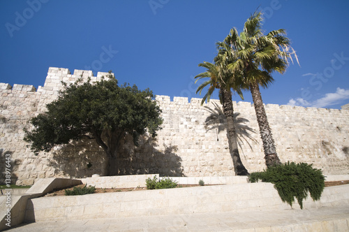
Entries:
{"type": "MultiPolygon", "coordinates": [[[[206,110],[210,113],[210,115],[205,120],[205,129],[206,131],[210,131],[216,129],[217,133],[221,133],[221,131],[227,130],[227,120],[225,119],[225,115],[223,113],[223,109],[218,106],[217,103],[213,103],[214,108],[210,108],[205,106],[206,110]]],[[[247,143],[248,147],[253,150],[250,141],[253,143],[258,143],[258,140],[253,138],[251,134],[256,133],[254,129],[250,126],[247,126],[247,123],[250,122],[248,119],[241,116],[240,113],[234,113],[234,124],[235,131],[237,133],[237,144],[242,150],[242,145],[247,143]]],[[[227,133],[228,137],[228,133],[227,133]]],[[[242,150],[242,152],[244,152],[242,150]]]]}

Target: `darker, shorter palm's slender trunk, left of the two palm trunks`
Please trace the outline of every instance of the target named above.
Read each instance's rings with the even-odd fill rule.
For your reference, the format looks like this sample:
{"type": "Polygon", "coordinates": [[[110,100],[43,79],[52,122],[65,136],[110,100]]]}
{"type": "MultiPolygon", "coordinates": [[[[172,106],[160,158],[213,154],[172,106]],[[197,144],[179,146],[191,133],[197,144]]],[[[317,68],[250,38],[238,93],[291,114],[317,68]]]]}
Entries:
{"type": "Polygon", "coordinates": [[[234,124],[234,109],[232,107],[232,93],[230,89],[221,88],[221,97],[223,101],[223,113],[227,119],[228,125],[228,143],[230,155],[232,156],[232,164],[234,165],[235,175],[248,175],[248,171],[240,159],[239,150],[237,148],[237,133],[234,124]]]}

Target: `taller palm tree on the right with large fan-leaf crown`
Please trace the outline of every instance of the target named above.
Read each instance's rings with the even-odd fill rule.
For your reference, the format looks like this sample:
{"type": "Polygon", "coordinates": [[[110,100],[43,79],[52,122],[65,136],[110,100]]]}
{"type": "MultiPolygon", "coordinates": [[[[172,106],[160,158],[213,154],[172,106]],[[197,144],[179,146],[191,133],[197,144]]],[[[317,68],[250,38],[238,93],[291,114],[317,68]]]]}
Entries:
{"type": "Polygon", "coordinates": [[[262,14],[255,12],[245,22],[242,33],[238,34],[237,29],[231,29],[224,42],[218,44],[218,48],[230,47],[228,68],[233,73],[240,73],[242,89],[251,91],[265,152],[265,163],[269,167],[281,164],[281,161],[276,153],[259,87],[268,87],[274,82],[271,73],[277,71],[283,74],[289,59],[292,61],[292,55],[297,59],[297,55],[290,46],[284,29],[270,31],[265,36],[262,34],[261,23],[262,14]]]}

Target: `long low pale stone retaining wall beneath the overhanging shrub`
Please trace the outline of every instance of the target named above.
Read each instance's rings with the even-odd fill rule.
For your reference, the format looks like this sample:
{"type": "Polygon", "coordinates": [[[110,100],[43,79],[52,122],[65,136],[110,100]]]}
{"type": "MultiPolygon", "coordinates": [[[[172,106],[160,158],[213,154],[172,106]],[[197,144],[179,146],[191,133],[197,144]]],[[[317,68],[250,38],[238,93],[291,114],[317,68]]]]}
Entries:
{"type": "MultiPolygon", "coordinates": [[[[320,201],[309,197],[308,208],[349,206],[349,185],[327,187],[320,201]]],[[[299,209],[295,203],[294,209],[299,209]]],[[[26,222],[69,221],[200,212],[290,209],[270,183],[232,184],[83,196],[51,196],[28,201],[26,222]]]]}

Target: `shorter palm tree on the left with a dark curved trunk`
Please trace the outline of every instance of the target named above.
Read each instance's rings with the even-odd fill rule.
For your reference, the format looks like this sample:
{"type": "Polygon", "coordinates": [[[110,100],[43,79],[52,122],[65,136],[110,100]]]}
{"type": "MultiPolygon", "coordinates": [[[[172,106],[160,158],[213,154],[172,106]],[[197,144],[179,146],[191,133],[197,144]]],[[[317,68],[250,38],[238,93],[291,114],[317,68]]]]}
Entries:
{"type": "MultiPolygon", "coordinates": [[[[196,91],[196,93],[200,92],[205,87],[209,86],[207,94],[202,98],[201,105],[205,103],[205,100],[209,102],[211,98],[211,94],[215,89],[219,89],[219,99],[221,100],[223,106],[223,113],[227,120],[228,126],[228,143],[230,147],[230,154],[232,156],[232,163],[234,165],[235,175],[248,175],[248,171],[246,170],[244,164],[240,159],[239,150],[237,147],[237,133],[234,124],[234,109],[232,107],[232,92],[228,85],[228,80],[233,80],[232,72],[226,68],[223,64],[223,61],[219,62],[219,55],[216,57],[216,64],[211,64],[209,62],[204,62],[199,64],[204,68],[207,68],[207,71],[204,73],[200,73],[195,76],[197,79],[195,82],[202,78],[209,78],[206,82],[202,83],[196,91]]],[[[240,89],[235,89],[240,96],[242,96],[242,92],[240,89]]]]}

